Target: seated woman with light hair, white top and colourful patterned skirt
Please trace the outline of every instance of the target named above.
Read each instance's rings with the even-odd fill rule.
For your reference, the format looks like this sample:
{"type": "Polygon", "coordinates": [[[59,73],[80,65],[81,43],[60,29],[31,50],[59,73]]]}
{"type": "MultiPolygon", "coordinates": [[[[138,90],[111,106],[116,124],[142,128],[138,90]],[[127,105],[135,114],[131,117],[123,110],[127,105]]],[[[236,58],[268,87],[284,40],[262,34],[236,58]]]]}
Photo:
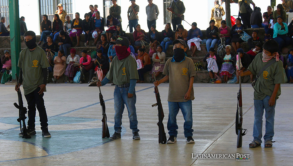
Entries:
{"type": "Polygon", "coordinates": [[[232,77],[235,69],[233,65],[233,56],[231,56],[231,46],[227,45],[225,49],[226,55],[224,57],[224,63],[222,64],[220,75],[224,77],[224,83],[227,83],[228,78],[232,77]]]}

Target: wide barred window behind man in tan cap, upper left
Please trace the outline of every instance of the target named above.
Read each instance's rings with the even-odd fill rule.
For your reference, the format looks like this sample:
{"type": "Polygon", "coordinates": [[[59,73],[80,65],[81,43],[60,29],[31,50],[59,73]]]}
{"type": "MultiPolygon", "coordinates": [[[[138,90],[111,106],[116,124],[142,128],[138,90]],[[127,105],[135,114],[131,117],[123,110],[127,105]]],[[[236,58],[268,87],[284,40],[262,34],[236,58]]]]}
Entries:
{"type": "Polygon", "coordinates": [[[58,4],[63,5],[63,10],[73,19],[72,0],[39,0],[40,22],[43,21],[43,15],[47,14],[48,19],[53,22],[55,11],[58,10],[58,4]]]}

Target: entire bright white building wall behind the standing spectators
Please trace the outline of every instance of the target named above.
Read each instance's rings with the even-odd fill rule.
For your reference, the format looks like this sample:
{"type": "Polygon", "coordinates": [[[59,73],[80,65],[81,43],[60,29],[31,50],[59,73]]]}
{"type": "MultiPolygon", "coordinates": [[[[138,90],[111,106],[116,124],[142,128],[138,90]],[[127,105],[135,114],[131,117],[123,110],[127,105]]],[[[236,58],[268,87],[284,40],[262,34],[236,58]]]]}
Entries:
{"type": "MultiPolygon", "coordinates": [[[[276,0],[276,4],[282,3],[281,0],[276,0]]],[[[27,30],[33,30],[37,35],[40,34],[40,22],[39,22],[39,4],[38,0],[19,0],[19,17],[24,16],[25,22],[27,24],[27,30]],[[29,9],[29,10],[28,10],[29,9]]],[[[72,0],[73,2],[73,18],[75,18],[75,13],[79,12],[80,18],[84,19],[84,14],[88,13],[89,5],[98,5],[98,11],[100,11],[101,16],[103,16],[103,1],[102,0],[72,0]]],[[[186,11],[185,11],[185,20],[192,24],[196,22],[198,24],[198,28],[201,30],[206,30],[209,27],[209,22],[211,18],[211,9],[214,7],[214,0],[182,0],[184,2],[186,11]]],[[[221,1],[220,1],[221,2],[221,1]]],[[[165,27],[163,24],[163,0],[153,0],[153,3],[156,4],[159,8],[160,14],[159,18],[156,21],[156,29],[158,31],[162,31],[165,27]]],[[[261,12],[266,12],[267,6],[270,5],[269,0],[254,0],[254,3],[257,7],[261,8],[261,12]]],[[[147,14],[146,14],[146,6],[148,5],[147,0],[136,0],[136,4],[140,6],[140,11],[138,12],[139,21],[138,24],[141,25],[141,28],[145,31],[148,31],[147,28],[147,14]]],[[[128,25],[127,19],[127,10],[131,5],[129,0],[118,0],[118,5],[121,6],[121,18],[122,18],[122,27],[123,30],[126,29],[128,25]]],[[[231,15],[238,16],[238,4],[230,4],[231,6],[231,15]]],[[[223,8],[225,9],[225,3],[223,4],[223,8]]],[[[251,5],[252,8],[252,5],[251,5]]],[[[57,10],[57,9],[56,9],[57,10]]],[[[225,19],[226,15],[223,16],[225,19]]],[[[237,18],[237,17],[235,17],[237,18]]],[[[191,28],[185,21],[182,21],[182,25],[185,29],[189,30],[191,28]]],[[[129,32],[129,28],[126,32],[129,32]]]]}

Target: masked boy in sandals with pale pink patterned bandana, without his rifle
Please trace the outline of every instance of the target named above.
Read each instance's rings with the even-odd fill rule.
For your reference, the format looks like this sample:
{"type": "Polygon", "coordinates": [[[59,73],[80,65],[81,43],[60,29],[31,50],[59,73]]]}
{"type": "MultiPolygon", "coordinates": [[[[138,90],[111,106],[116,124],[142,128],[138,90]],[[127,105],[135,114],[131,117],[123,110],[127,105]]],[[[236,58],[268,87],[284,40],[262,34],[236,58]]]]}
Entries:
{"type": "Polygon", "coordinates": [[[263,51],[255,56],[246,72],[239,71],[237,75],[256,75],[252,83],[254,89],[254,125],[253,142],[250,148],[260,146],[262,143],[262,116],[266,111],[266,133],[263,136],[265,148],[272,147],[274,136],[274,118],[276,100],[281,94],[280,84],[287,82],[283,63],[277,53],[279,44],[275,40],[269,40],[262,46],[263,51]]]}

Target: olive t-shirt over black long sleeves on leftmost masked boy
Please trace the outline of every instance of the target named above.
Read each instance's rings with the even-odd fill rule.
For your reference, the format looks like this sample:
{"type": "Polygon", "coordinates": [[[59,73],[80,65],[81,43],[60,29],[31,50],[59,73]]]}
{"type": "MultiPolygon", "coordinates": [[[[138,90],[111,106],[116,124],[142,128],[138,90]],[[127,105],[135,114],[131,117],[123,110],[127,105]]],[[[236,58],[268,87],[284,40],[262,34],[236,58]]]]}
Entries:
{"type": "Polygon", "coordinates": [[[23,89],[26,95],[43,84],[42,69],[50,65],[45,51],[37,46],[34,51],[25,48],[19,53],[18,67],[22,69],[23,89]]]}

